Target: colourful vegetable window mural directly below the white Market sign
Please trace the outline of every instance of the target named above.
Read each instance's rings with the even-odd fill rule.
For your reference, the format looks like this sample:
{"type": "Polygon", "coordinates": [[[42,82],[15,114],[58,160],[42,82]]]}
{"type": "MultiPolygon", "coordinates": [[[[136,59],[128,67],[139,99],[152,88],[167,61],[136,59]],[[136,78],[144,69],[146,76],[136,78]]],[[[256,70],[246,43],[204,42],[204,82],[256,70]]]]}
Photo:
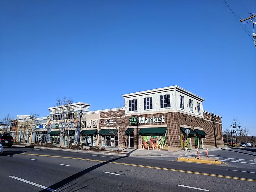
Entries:
{"type": "Polygon", "coordinates": [[[168,149],[167,132],[165,134],[148,134],[145,136],[141,136],[141,146],[144,146],[144,149],[153,149],[153,144],[156,150],[158,150],[158,146],[160,147],[160,150],[168,149]]]}

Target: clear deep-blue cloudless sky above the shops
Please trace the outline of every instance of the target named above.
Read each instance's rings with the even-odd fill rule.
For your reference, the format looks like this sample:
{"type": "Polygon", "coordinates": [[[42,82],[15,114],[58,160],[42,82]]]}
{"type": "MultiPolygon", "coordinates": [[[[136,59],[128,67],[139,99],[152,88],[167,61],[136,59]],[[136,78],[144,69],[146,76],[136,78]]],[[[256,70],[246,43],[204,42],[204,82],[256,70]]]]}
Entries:
{"type": "MultiPolygon", "coordinates": [[[[250,16],[239,0],[226,2],[250,16]]],[[[241,2],[256,13],[255,0],[241,2]]],[[[205,98],[223,130],[236,117],[256,136],[256,48],[222,0],[2,0],[0,27],[0,119],[46,116],[56,97],[92,111],[178,85],[205,98]]]]}

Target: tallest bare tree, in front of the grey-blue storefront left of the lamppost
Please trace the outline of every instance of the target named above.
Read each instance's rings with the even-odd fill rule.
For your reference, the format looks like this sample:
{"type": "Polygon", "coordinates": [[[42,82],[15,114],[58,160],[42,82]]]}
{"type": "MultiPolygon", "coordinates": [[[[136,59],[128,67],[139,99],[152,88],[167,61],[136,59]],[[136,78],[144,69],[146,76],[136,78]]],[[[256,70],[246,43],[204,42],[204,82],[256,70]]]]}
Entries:
{"type": "Polygon", "coordinates": [[[62,147],[68,128],[71,127],[71,123],[74,122],[74,107],[72,98],[63,97],[62,99],[56,98],[56,110],[55,115],[59,115],[58,118],[53,119],[55,122],[55,128],[58,128],[62,135],[62,147]]]}

